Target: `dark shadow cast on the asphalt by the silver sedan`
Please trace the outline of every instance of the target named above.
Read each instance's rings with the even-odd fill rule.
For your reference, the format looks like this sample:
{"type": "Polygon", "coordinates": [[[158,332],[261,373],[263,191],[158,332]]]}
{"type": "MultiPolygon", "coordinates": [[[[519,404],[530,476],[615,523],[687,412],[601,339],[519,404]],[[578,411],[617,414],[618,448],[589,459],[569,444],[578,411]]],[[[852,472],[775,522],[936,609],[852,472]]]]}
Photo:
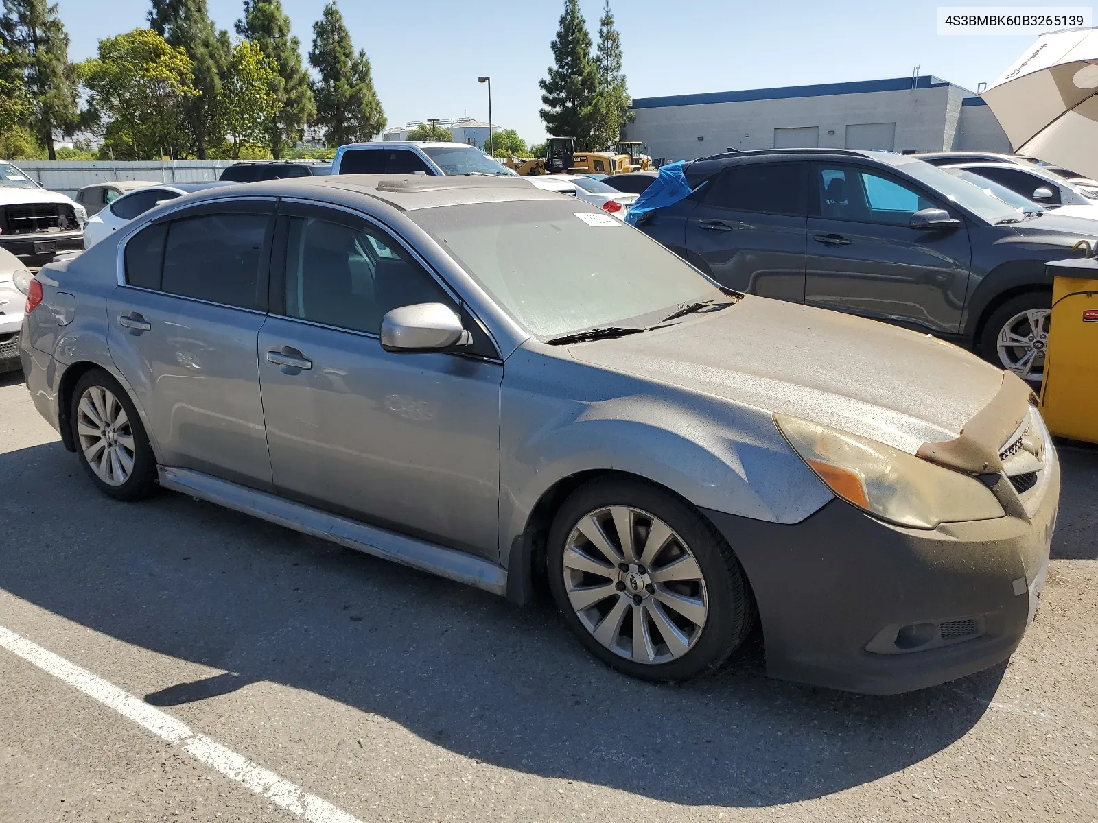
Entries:
{"type": "MultiPolygon", "coordinates": [[[[1098,470],[1064,462],[1068,478],[1098,470]]],[[[981,719],[1005,669],[847,695],[768,679],[757,633],[714,676],[645,684],[591,658],[546,605],[519,610],[178,494],[115,503],[60,443],[0,455],[0,587],[232,673],[146,697],[157,706],[269,680],[508,769],[742,808],[838,792],[933,755],[981,719]]],[[[1086,528],[1072,517],[1065,528],[1086,528]]],[[[1077,551],[1057,540],[1061,556],[1077,551]]]]}

